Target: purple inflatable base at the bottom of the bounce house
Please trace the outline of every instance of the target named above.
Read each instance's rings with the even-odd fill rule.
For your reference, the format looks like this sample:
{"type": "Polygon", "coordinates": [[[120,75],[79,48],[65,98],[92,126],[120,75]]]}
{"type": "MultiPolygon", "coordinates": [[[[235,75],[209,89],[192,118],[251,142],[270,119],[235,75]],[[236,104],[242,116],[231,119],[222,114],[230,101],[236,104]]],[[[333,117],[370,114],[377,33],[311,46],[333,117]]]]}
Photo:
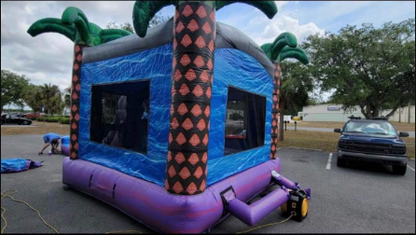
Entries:
{"type": "Polygon", "coordinates": [[[63,183],[114,206],[157,232],[202,233],[222,221],[227,213],[254,225],[286,203],[289,194],[282,188],[250,206],[245,203],[270,186],[273,170],[280,172],[280,159],[224,179],[202,194],[183,196],[116,170],[66,157],[63,183]]]}

